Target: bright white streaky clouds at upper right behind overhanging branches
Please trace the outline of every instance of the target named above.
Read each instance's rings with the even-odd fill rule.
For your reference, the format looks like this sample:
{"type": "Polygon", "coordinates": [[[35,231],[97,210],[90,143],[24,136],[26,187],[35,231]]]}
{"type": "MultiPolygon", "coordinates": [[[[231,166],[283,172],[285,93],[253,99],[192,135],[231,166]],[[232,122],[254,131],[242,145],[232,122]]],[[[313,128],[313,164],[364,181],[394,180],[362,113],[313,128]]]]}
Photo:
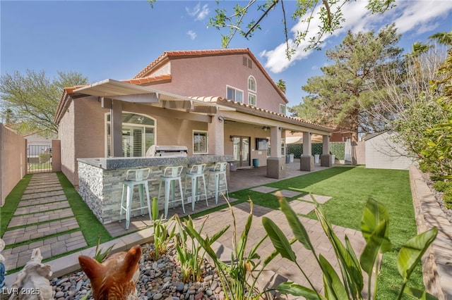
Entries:
{"type": "MultiPolygon", "coordinates": [[[[438,19],[444,18],[449,11],[452,11],[452,1],[450,0],[412,0],[412,1],[396,1],[396,8],[391,11],[386,11],[383,14],[372,15],[365,7],[367,1],[349,1],[342,8],[345,23],[343,27],[336,30],[333,35],[325,35],[323,42],[327,42],[331,37],[343,35],[348,30],[352,32],[359,31],[378,31],[382,24],[396,23],[398,33],[404,34],[406,32],[414,32],[421,34],[434,30],[439,26],[438,19]]],[[[316,13],[319,12],[320,7],[317,7],[316,13]]],[[[334,8],[331,8],[334,11],[334,8]]],[[[309,32],[306,40],[309,41],[311,37],[316,35],[317,29],[321,25],[318,18],[313,18],[309,24],[309,32]]],[[[304,32],[307,23],[299,21],[291,28],[293,38],[297,32],[304,32]]],[[[290,39],[290,45],[294,46],[293,39],[290,39]]],[[[304,51],[308,43],[302,41],[297,46],[295,54],[292,55],[291,61],[285,56],[286,44],[282,43],[273,50],[266,50],[261,52],[261,57],[266,58],[265,67],[273,73],[280,73],[283,70],[295,64],[303,58],[307,58],[312,51],[304,51]]]]}

